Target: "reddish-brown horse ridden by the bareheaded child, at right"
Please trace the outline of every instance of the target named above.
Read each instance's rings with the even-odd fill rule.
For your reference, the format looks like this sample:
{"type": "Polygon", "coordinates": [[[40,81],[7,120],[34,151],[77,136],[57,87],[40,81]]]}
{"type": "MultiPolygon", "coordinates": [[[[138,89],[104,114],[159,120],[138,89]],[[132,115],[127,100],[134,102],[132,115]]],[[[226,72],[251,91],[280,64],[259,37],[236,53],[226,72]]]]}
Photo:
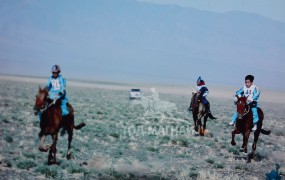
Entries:
{"type": "MultiPolygon", "coordinates": [[[[235,135],[242,133],[243,135],[243,144],[241,146],[240,152],[244,152],[247,154],[247,144],[251,129],[253,128],[253,113],[251,108],[256,104],[250,103],[247,104],[247,97],[238,97],[237,96],[237,112],[238,112],[238,119],[236,121],[236,127],[232,131],[232,141],[231,145],[235,146],[235,135]]],[[[254,157],[254,151],[256,150],[256,143],[258,141],[260,133],[269,135],[271,133],[270,130],[262,129],[262,123],[264,119],[263,111],[260,108],[257,108],[259,121],[257,123],[257,129],[254,132],[254,142],[252,144],[252,152],[248,155],[247,162],[250,163],[251,159],[254,157]]]]}

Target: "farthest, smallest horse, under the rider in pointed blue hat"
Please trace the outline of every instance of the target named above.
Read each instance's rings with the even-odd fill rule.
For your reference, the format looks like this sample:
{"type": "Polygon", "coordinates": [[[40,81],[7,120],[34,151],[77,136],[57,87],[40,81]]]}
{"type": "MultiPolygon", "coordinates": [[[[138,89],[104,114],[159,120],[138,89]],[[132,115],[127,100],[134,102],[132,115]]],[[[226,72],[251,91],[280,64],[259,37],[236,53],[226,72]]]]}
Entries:
{"type": "Polygon", "coordinates": [[[202,100],[198,93],[194,93],[194,92],[192,93],[190,107],[192,107],[194,129],[196,132],[199,132],[201,136],[204,136],[208,118],[210,119],[216,119],[216,118],[212,115],[211,112],[206,112],[206,107],[202,103],[202,100]],[[202,124],[201,119],[203,117],[204,117],[204,123],[202,124]]]}

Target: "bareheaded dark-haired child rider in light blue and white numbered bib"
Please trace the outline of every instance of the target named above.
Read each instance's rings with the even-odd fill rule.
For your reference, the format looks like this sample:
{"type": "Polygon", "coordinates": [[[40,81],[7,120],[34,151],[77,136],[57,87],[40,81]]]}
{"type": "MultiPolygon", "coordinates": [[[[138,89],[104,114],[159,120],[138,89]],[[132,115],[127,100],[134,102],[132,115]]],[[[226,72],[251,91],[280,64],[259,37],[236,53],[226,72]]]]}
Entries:
{"type": "MultiPolygon", "coordinates": [[[[252,113],[253,113],[253,128],[251,129],[252,131],[256,131],[257,129],[257,122],[259,120],[258,113],[257,113],[257,100],[260,95],[259,89],[256,87],[256,85],[253,84],[254,76],[252,75],[247,75],[245,77],[245,85],[236,92],[237,96],[246,96],[247,97],[247,103],[253,103],[254,106],[251,108],[252,113]]],[[[238,113],[236,112],[232,119],[231,122],[229,123],[230,126],[233,126],[237,120],[238,113]]]]}

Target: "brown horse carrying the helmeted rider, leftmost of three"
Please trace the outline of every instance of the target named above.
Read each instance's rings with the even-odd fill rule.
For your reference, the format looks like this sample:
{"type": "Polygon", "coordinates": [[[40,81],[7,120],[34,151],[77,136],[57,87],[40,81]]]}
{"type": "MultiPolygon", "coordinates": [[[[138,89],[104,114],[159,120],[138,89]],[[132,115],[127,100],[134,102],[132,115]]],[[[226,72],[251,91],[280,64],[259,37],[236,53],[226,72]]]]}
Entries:
{"type": "Polygon", "coordinates": [[[62,118],[61,115],[61,100],[52,101],[48,98],[48,90],[41,89],[39,87],[39,93],[36,96],[36,102],[34,106],[35,115],[41,112],[40,128],[42,134],[40,134],[41,143],[39,150],[47,152],[49,150],[48,164],[56,164],[56,142],[58,139],[58,131],[61,127],[65,128],[68,133],[68,151],[67,159],[71,158],[71,141],[73,135],[73,129],[80,129],[85,126],[85,123],[81,123],[77,126],[74,125],[74,110],[70,104],[68,104],[69,114],[62,118]],[[52,136],[52,145],[44,146],[44,142],[47,135],[52,136]]]}

